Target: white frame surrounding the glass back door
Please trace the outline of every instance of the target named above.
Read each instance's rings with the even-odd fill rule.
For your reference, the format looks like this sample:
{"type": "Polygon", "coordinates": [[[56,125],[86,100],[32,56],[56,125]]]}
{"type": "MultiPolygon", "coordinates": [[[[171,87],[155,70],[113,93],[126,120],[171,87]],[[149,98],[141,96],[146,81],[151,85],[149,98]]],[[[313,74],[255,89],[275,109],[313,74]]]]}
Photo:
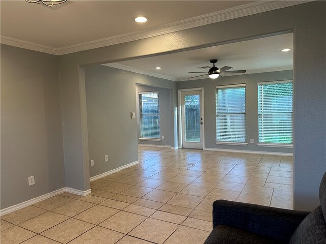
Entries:
{"type": "Polygon", "coordinates": [[[202,125],[202,131],[203,131],[203,150],[205,150],[205,116],[204,116],[204,87],[198,87],[198,88],[188,88],[188,89],[178,89],[178,127],[179,127],[179,148],[183,148],[183,142],[182,142],[182,113],[181,113],[181,92],[191,92],[193,90],[200,90],[202,102],[200,104],[200,109],[202,111],[203,116],[203,125],[202,125]]]}

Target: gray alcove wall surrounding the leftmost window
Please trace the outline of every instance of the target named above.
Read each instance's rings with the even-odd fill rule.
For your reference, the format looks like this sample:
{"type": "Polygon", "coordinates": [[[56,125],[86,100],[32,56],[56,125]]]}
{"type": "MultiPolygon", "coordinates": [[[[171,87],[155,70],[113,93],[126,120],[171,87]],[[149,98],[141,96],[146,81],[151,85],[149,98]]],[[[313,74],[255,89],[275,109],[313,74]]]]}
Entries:
{"type": "Polygon", "coordinates": [[[170,89],[158,88],[146,85],[136,85],[136,105],[137,105],[137,131],[138,131],[138,144],[148,145],[166,145],[171,146],[171,104],[170,104],[170,89]],[[161,141],[144,141],[139,140],[141,137],[140,130],[140,116],[139,116],[139,96],[141,92],[158,92],[158,104],[159,104],[159,120],[161,136],[164,136],[164,140],[161,141]]]}

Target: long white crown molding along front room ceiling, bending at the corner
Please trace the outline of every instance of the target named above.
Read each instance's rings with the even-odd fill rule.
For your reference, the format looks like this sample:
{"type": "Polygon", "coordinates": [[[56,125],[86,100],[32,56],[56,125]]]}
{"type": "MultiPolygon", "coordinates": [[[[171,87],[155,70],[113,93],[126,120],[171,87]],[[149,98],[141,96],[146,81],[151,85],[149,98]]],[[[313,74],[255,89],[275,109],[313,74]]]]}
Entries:
{"type": "Polygon", "coordinates": [[[177,31],[182,31],[184,29],[194,28],[206,24],[212,24],[216,22],[229,20],[229,19],[235,19],[239,17],[263,13],[271,10],[291,7],[294,5],[305,4],[309,2],[313,2],[313,1],[273,1],[273,2],[258,1],[254,3],[245,4],[242,6],[233,7],[230,9],[206,14],[206,15],[201,15],[193,18],[188,18],[185,20],[176,21],[174,23],[148,28],[139,32],[126,33],[122,35],[103,38],[91,42],[80,43],[80,44],[71,45],[62,48],[47,47],[35,43],[20,41],[5,36],[1,36],[1,43],[15,46],[15,47],[21,47],[25,49],[50,53],[50,54],[63,55],[63,54],[68,54],[73,52],[99,48],[99,47],[111,46],[119,43],[145,39],[149,37],[155,37],[163,34],[169,34],[177,31]]]}

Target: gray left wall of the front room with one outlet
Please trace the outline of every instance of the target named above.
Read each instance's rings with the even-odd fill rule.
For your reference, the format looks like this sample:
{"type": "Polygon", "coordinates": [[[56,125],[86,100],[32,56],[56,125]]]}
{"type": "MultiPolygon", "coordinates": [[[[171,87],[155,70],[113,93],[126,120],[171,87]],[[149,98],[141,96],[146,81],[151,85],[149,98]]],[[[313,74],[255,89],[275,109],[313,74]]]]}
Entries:
{"type": "Polygon", "coordinates": [[[1,45],[1,208],[65,187],[64,176],[58,56],[1,45]]]}

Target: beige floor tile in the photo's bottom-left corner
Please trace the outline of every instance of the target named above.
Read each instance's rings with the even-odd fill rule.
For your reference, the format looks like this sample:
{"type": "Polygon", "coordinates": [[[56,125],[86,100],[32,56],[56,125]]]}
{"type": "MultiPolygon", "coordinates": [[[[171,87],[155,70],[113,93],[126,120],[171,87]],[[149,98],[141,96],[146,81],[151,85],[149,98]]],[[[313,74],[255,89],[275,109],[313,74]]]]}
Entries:
{"type": "Polygon", "coordinates": [[[14,226],[0,233],[1,243],[3,244],[15,244],[27,240],[36,235],[32,231],[25,230],[21,227],[14,226]]]}

